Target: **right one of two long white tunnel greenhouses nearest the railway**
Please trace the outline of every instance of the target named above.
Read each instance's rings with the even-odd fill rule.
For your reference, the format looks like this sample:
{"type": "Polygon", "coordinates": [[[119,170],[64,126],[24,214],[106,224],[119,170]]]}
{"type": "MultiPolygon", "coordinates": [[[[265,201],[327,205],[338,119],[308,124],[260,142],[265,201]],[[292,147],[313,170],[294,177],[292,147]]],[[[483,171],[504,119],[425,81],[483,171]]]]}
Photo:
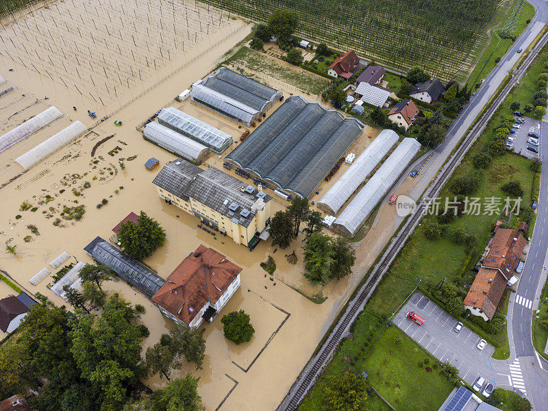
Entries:
{"type": "Polygon", "coordinates": [[[369,182],[358,192],[347,208],[333,223],[333,227],[347,236],[358,232],[379,201],[388,193],[401,173],[419,152],[421,143],[414,138],[404,138],[369,182]]]}

